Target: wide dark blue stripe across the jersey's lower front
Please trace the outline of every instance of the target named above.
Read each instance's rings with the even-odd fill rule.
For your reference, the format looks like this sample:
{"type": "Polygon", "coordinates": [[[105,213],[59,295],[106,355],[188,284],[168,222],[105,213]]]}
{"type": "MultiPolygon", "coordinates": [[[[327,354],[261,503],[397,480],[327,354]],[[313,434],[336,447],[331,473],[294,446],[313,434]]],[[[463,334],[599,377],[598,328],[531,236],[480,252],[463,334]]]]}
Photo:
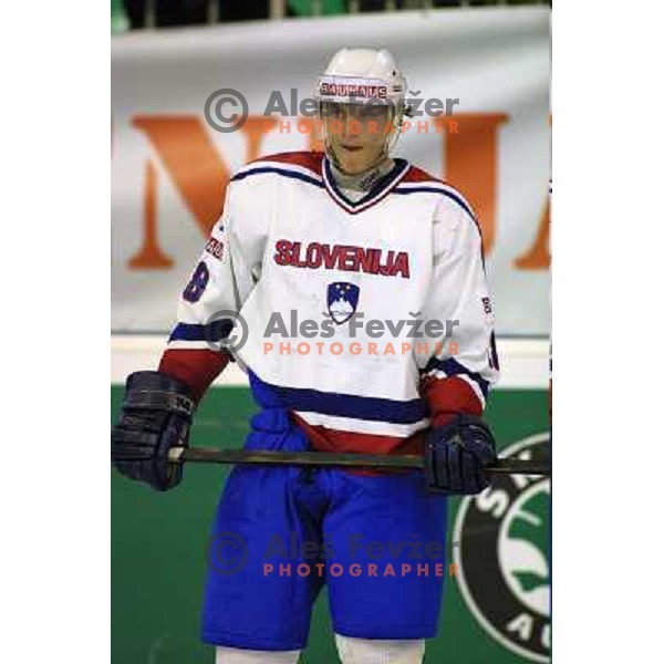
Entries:
{"type": "Polygon", "coordinates": [[[425,404],[421,398],[395,401],[272,385],[261,381],[252,372],[249,372],[249,381],[256,401],[263,407],[391,424],[415,424],[426,417],[425,404]]]}

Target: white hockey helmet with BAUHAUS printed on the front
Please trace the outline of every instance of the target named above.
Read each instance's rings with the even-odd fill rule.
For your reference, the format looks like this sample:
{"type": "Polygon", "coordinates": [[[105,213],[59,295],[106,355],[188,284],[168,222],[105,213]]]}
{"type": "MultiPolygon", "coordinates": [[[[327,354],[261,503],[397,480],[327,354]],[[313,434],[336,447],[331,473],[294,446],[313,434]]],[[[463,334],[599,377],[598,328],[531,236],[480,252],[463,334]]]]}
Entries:
{"type": "MultiPolygon", "coordinates": [[[[319,104],[377,104],[390,106],[394,132],[386,136],[385,154],[396,144],[406,107],[406,80],[386,49],[341,49],[315,81],[319,104]]],[[[328,141],[325,139],[325,148],[328,141]]]]}

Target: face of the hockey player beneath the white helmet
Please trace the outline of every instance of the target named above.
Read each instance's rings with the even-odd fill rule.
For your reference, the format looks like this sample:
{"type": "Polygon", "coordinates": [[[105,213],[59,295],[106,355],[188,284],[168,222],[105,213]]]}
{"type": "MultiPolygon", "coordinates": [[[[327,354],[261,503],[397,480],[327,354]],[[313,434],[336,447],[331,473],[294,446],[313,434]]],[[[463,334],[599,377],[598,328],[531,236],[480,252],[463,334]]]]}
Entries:
{"type": "Polygon", "coordinates": [[[375,164],[390,135],[391,114],[387,106],[329,104],[323,122],[334,156],[345,173],[364,173],[375,164]]]}

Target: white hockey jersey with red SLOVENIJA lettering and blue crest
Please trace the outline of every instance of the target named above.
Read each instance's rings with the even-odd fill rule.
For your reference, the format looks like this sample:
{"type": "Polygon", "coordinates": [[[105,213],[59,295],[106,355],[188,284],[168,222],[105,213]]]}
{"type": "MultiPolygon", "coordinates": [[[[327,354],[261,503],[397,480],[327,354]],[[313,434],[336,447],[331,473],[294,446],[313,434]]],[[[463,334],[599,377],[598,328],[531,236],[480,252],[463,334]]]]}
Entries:
{"type": "Polygon", "coordinates": [[[242,167],[169,352],[209,347],[234,312],[257,401],[287,407],[324,450],[416,452],[432,417],[480,414],[498,376],[474,212],[404,159],[356,203],[321,153],[242,167]]]}

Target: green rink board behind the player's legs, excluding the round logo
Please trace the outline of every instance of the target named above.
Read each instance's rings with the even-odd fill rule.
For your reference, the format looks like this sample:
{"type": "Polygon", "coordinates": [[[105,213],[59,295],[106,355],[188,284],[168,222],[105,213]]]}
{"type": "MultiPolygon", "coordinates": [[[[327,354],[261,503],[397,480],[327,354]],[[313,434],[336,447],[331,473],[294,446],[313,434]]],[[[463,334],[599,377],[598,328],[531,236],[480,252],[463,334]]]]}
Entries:
{"type": "MultiPolygon", "coordinates": [[[[122,393],[122,387],[112,386],[112,421],[117,416],[122,393]]],[[[547,407],[543,390],[496,391],[489,400],[487,418],[505,447],[544,432],[547,407]]],[[[248,419],[255,412],[247,388],[214,388],[197,413],[191,440],[201,446],[240,447],[248,419]]],[[[205,547],[219,491],[229,470],[228,466],[188,466],[184,483],[165,494],[112,471],[114,664],[214,662],[212,649],[198,639],[205,547]]],[[[458,504],[458,499],[452,500],[450,539],[458,504]]],[[[446,578],[445,582],[439,635],[427,643],[427,664],[536,661],[498,643],[468,609],[458,581],[446,578]]],[[[309,645],[300,664],[335,662],[339,658],[323,592],[314,609],[309,645]]]]}

